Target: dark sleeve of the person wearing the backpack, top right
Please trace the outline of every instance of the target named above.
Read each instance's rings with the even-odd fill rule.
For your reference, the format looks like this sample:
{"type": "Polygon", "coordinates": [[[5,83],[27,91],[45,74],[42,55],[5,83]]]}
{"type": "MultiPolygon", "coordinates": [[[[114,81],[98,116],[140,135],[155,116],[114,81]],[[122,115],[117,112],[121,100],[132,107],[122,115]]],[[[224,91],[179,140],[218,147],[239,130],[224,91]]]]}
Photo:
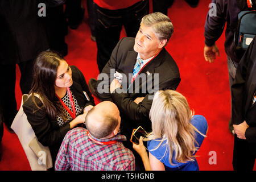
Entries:
{"type": "Polygon", "coordinates": [[[205,44],[207,46],[213,46],[213,44],[220,38],[224,26],[225,26],[225,12],[226,12],[226,1],[212,1],[212,8],[207,14],[204,26],[204,37],[205,44]],[[216,6],[216,10],[215,10],[216,6]],[[216,15],[214,15],[216,13],[216,15]]]}

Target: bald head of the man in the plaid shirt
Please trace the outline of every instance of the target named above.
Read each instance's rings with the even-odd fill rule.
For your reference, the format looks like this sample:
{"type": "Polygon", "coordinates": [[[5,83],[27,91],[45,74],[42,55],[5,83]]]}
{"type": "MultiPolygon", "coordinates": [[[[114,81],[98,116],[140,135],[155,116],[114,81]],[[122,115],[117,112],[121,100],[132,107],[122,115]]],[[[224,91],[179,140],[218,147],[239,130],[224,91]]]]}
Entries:
{"type": "Polygon", "coordinates": [[[86,128],[96,138],[107,138],[119,129],[119,110],[110,101],[104,101],[91,109],[85,118],[86,128]]]}

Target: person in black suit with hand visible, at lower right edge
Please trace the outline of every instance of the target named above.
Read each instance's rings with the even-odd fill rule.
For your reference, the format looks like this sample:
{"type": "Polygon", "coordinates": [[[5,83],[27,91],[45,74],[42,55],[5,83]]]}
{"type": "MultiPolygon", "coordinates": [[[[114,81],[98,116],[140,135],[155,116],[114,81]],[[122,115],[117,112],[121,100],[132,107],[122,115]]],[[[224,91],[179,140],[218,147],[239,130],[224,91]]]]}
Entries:
{"type": "Polygon", "coordinates": [[[256,42],[255,37],[237,67],[232,84],[234,170],[253,170],[256,158],[256,42]]]}

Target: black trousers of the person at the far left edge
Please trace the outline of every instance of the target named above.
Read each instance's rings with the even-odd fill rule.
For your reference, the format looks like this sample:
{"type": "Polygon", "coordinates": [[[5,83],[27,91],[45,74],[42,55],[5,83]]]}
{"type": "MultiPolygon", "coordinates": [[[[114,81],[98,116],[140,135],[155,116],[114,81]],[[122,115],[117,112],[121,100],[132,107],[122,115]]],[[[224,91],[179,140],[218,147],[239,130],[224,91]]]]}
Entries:
{"type": "MultiPolygon", "coordinates": [[[[26,94],[31,89],[34,60],[25,61],[18,65],[21,73],[20,89],[22,94],[26,94]]],[[[16,65],[0,65],[0,67],[0,85],[2,85],[0,89],[0,115],[2,115],[2,121],[5,122],[6,126],[10,127],[18,112],[15,98],[16,65]]]]}

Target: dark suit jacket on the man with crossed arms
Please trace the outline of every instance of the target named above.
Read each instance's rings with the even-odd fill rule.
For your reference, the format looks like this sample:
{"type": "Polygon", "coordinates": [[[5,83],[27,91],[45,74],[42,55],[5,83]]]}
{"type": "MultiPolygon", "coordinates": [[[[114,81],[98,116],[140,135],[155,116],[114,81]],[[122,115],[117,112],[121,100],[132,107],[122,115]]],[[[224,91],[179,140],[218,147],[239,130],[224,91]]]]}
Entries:
{"type": "MultiPolygon", "coordinates": [[[[131,76],[138,55],[138,53],[134,51],[133,46],[134,38],[123,38],[119,40],[112,52],[110,60],[102,70],[103,75],[100,74],[98,77],[97,86],[101,87],[102,84],[110,85],[110,81],[114,78],[113,75],[110,75],[110,69],[114,69],[123,74],[122,87],[126,88],[124,90],[127,90],[131,83],[131,76]],[[105,73],[109,76],[107,80],[101,78],[101,76],[106,76],[105,73]]],[[[131,132],[138,126],[142,126],[147,131],[151,130],[151,122],[148,115],[154,92],[164,89],[176,90],[180,83],[179,69],[165,48],[143,68],[139,76],[133,82],[128,93],[98,93],[101,100],[113,101],[118,106],[122,118],[121,133],[126,135],[127,138],[130,138],[131,132]],[[144,76],[146,75],[146,79],[142,79],[142,81],[135,86],[134,83],[139,81],[139,76],[143,76],[142,73],[144,76]],[[154,81],[156,80],[154,73],[159,74],[159,85],[156,86],[154,86],[154,81]],[[143,86],[146,85],[148,85],[150,89],[143,90],[143,86]],[[159,86],[159,88],[157,88],[157,86],[159,86]],[[134,102],[137,97],[145,98],[137,105],[134,102]]],[[[118,92],[118,89],[115,91],[118,92]]]]}

